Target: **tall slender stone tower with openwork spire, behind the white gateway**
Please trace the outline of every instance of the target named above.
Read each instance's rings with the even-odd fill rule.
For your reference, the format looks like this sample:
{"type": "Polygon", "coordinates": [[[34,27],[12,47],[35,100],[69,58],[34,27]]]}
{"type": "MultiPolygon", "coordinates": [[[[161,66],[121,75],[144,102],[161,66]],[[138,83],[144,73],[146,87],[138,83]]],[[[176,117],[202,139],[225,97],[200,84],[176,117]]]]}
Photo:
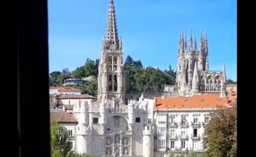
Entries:
{"type": "Polygon", "coordinates": [[[114,1],[110,0],[106,33],[101,46],[101,60],[98,66],[98,100],[125,95],[123,74],[122,40],[118,37],[114,1]]]}

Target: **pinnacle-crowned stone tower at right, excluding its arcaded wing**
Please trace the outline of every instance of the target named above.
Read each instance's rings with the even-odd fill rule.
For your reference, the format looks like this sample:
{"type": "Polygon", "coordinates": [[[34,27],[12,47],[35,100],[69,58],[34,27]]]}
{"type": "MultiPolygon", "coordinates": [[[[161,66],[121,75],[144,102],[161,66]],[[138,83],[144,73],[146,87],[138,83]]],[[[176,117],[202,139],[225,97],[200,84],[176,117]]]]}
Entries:
{"type": "Polygon", "coordinates": [[[179,39],[178,62],[176,74],[176,87],[179,91],[190,91],[192,89],[192,78],[194,66],[197,63],[199,71],[208,71],[208,40],[207,35],[200,34],[199,50],[197,49],[196,37],[192,38],[190,31],[189,46],[187,49],[186,35],[182,31],[179,39]]]}

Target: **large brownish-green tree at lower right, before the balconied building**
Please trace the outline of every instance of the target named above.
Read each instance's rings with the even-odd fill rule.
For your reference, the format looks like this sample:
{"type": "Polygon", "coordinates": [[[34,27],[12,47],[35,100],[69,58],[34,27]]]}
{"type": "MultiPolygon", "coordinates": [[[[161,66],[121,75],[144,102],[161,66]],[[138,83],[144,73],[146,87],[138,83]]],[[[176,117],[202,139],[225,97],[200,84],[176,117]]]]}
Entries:
{"type": "Polygon", "coordinates": [[[208,157],[236,157],[237,104],[211,114],[204,137],[208,157]]]}

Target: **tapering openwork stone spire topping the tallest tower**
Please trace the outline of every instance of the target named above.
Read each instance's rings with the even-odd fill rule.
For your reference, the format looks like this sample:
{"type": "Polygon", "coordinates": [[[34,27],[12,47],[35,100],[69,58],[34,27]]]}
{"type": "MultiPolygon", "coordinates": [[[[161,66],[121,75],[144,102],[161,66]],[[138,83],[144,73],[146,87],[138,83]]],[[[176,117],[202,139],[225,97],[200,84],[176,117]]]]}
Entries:
{"type": "Polygon", "coordinates": [[[107,28],[105,33],[105,49],[119,49],[119,38],[117,33],[116,14],[114,1],[110,0],[110,7],[107,15],[107,28]]]}

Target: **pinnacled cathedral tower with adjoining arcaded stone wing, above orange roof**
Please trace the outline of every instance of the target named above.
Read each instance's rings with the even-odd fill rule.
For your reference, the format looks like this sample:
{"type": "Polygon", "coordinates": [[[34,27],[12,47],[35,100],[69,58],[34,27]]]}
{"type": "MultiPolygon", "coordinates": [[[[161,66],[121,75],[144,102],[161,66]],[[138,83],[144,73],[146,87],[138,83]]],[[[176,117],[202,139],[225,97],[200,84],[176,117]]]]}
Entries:
{"type": "Polygon", "coordinates": [[[178,63],[176,73],[176,90],[185,95],[205,93],[220,93],[226,96],[226,71],[210,71],[208,61],[208,40],[206,33],[201,31],[200,47],[197,48],[196,37],[194,44],[190,31],[189,47],[184,32],[180,34],[178,48],[178,63]]]}

